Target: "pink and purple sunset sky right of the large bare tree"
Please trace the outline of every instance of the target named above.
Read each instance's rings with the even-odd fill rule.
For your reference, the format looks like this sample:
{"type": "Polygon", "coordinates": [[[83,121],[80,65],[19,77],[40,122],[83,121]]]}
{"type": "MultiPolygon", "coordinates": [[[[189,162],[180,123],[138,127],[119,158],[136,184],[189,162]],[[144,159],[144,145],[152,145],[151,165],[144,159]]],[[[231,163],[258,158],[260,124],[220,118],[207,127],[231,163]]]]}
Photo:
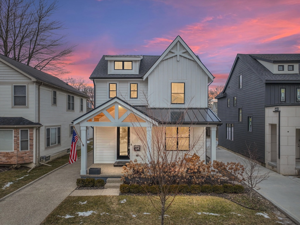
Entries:
{"type": "Polygon", "coordinates": [[[53,17],[76,44],[69,77],[88,79],[102,55],[161,55],[180,35],[225,84],[237,53],[300,53],[298,0],[60,0],[53,17]]]}

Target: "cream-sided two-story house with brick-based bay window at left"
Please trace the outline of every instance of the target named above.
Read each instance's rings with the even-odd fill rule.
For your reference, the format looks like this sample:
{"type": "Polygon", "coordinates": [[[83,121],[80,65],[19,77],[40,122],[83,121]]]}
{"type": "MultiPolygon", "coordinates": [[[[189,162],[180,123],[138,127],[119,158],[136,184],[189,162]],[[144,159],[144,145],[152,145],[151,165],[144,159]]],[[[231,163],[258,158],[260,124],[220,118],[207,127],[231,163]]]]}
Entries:
{"type": "Polygon", "coordinates": [[[56,77],[0,55],[0,165],[33,167],[67,154],[72,121],[87,112],[87,98],[56,77]]]}

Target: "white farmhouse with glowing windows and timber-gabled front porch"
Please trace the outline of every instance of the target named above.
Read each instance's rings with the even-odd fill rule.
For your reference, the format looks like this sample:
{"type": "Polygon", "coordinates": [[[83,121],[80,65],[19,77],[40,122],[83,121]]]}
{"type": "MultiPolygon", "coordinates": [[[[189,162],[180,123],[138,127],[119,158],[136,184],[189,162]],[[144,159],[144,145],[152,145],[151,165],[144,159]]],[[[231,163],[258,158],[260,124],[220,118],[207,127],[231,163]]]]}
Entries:
{"type": "MultiPolygon", "coordinates": [[[[165,151],[196,153],[205,160],[207,126],[214,160],[221,121],[208,108],[213,78],[180,36],[161,56],[104,55],[90,76],[95,108],[74,124],[80,124],[82,141],[87,127],[94,127],[94,163],[149,161],[157,148],[154,129],[164,129],[165,151]]],[[[87,174],[83,144],[81,175],[87,174]]]]}

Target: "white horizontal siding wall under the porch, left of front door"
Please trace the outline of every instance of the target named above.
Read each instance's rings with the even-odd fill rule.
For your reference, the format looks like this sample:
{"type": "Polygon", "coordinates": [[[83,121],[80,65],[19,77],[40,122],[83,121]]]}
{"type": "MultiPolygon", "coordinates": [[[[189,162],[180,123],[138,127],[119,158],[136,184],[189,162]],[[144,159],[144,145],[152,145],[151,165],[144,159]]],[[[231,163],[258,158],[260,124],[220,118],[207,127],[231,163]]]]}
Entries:
{"type": "Polygon", "coordinates": [[[94,163],[115,163],[117,155],[116,127],[94,127],[94,163]]]}

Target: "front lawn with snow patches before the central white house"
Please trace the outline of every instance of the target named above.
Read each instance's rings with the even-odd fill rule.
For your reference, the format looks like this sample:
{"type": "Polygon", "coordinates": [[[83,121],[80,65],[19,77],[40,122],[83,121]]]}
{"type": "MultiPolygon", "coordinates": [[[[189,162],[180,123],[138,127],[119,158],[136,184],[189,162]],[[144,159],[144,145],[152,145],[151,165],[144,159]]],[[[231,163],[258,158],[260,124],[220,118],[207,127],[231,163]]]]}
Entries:
{"type": "MultiPolygon", "coordinates": [[[[276,221],[280,219],[271,210],[252,210],[214,196],[177,196],[165,213],[165,224],[268,225],[277,224],[276,221]],[[256,213],[266,213],[270,218],[256,213]]],[[[160,218],[147,196],[69,196],[41,224],[81,223],[150,225],[160,224],[160,218]],[[121,203],[124,199],[126,202],[121,203]],[[84,212],[91,215],[79,216],[84,212]],[[67,215],[72,217],[64,218],[67,215]]]]}

